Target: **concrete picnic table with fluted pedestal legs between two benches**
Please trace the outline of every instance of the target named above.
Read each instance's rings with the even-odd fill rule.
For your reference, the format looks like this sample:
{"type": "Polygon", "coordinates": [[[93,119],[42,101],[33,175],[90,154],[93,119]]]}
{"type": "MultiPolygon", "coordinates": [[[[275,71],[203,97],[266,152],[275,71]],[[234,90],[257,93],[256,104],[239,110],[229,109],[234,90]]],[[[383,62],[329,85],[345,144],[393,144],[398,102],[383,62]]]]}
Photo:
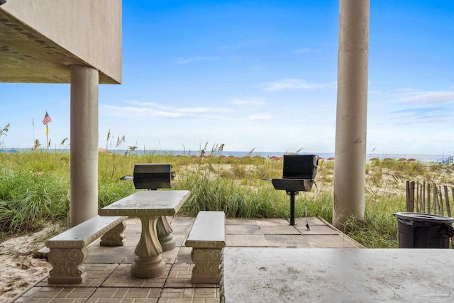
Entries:
{"type": "Polygon", "coordinates": [[[99,209],[99,216],[136,216],[140,219],[142,231],[135,248],[137,257],[131,265],[133,277],[147,279],[165,271],[165,262],[160,255],[163,246],[165,250],[175,248],[166,216],[174,216],[190,194],[187,190],[143,190],[99,209]]]}

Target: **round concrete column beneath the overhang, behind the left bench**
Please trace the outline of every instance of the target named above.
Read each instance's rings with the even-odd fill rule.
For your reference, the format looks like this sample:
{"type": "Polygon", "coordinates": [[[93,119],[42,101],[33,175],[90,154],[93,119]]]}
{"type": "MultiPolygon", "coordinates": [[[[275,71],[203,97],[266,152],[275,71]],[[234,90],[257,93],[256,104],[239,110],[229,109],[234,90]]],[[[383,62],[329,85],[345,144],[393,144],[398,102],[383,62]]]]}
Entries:
{"type": "Polygon", "coordinates": [[[98,84],[98,70],[71,66],[71,226],[98,214],[98,84]]]}

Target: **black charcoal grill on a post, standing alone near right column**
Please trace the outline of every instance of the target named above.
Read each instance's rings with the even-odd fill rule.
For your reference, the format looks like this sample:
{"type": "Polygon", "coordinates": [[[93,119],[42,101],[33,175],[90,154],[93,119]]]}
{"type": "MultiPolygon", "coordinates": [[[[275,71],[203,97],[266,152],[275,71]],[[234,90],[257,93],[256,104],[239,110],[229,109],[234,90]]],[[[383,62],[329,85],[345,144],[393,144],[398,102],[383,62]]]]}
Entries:
{"type": "MultiPolygon", "coordinates": [[[[282,179],[272,179],[275,189],[285,190],[290,196],[290,225],[295,225],[295,196],[310,192],[317,174],[316,155],[284,155],[282,179]]],[[[309,227],[308,227],[309,228],[309,227]]]]}

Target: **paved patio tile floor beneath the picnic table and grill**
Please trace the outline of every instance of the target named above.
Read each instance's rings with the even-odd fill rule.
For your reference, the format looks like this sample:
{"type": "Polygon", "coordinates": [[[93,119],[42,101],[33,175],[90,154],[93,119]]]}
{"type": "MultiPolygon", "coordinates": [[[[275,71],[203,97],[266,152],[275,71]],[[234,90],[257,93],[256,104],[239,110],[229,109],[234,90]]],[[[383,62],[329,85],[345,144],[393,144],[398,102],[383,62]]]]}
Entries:
{"type": "MultiPolygon", "coordinates": [[[[187,233],[195,218],[168,217],[176,247],[162,253],[165,273],[153,279],[131,277],[141,224],[128,219],[126,246],[100,247],[99,239],[89,246],[89,258],[84,266],[87,279],[79,285],[49,285],[47,277],[21,294],[15,302],[57,303],[218,303],[219,285],[192,284],[192,248],[184,246],[187,233]],[[106,262],[109,262],[106,263],[106,262]],[[74,291],[77,290],[77,291],[74,291]],[[161,296],[162,293],[162,296],[161,296]],[[159,299],[158,299],[159,298],[159,299]]],[[[348,236],[317,218],[297,218],[295,226],[287,219],[227,219],[226,246],[236,247],[296,247],[296,248],[353,248],[360,247],[348,236]]]]}

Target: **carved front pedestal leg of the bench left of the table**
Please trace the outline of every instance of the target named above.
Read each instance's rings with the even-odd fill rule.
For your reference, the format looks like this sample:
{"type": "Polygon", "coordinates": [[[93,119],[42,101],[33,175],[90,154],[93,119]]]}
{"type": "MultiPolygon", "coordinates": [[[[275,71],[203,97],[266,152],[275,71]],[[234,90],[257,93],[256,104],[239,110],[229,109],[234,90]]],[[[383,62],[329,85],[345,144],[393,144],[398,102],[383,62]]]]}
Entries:
{"type": "Polygon", "coordinates": [[[50,270],[49,284],[79,284],[87,275],[84,260],[87,259],[87,248],[50,248],[48,253],[50,270]]]}

